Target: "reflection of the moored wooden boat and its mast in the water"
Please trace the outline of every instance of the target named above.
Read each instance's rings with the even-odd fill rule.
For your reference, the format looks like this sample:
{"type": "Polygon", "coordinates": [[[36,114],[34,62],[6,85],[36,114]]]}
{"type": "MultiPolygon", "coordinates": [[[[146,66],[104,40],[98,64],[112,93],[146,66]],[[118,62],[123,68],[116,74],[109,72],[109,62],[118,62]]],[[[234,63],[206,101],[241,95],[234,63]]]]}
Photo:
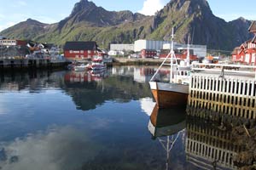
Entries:
{"type": "Polygon", "coordinates": [[[185,117],[185,109],[159,109],[157,105],[150,115],[148,131],[166,150],[166,170],[170,168],[170,152],[186,127],[185,117]]]}

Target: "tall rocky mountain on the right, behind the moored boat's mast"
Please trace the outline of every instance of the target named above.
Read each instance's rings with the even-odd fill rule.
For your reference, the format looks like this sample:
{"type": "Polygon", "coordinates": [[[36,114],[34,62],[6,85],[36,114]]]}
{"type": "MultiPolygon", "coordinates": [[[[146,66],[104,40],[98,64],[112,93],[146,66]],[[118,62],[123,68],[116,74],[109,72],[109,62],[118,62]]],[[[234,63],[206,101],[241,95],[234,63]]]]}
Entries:
{"type": "Polygon", "coordinates": [[[231,50],[250,36],[251,22],[242,18],[226,22],[212,14],[206,0],[172,0],[154,16],[153,39],[170,39],[172,27],[178,42],[207,44],[207,48],[231,50]]]}

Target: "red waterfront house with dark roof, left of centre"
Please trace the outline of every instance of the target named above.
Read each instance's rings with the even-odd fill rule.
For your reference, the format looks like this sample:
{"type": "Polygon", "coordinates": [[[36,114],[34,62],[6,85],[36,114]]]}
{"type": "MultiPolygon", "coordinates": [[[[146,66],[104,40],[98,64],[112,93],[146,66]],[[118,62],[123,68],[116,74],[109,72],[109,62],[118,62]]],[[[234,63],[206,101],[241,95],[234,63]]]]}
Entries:
{"type": "Polygon", "coordinates": [[[71,60],[91,59],[97,55],[96,42],[66,42],[64,45],[64,57],[71,60]]]}

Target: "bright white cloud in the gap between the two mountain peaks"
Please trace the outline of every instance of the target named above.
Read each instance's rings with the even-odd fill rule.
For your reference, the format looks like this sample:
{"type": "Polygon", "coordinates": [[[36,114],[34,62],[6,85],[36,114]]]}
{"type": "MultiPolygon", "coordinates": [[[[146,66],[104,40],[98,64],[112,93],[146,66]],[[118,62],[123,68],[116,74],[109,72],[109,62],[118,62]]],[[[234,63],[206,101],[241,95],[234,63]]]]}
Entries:
{"type": "Polygon", "coordinates": [[[138,13],[145,15],[154,15],[154,13],[163,8],[165,3],[162,0],[146,0],[143,3],[143,8],[138,13]]]}

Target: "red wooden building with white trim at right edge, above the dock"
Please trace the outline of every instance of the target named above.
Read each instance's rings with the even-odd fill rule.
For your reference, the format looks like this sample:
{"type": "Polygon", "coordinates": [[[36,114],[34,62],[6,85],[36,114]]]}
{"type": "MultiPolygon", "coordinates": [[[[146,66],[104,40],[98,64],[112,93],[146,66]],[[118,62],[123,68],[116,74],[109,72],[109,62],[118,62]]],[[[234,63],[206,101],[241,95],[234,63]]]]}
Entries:
{"type": "Polygon", "coordinates": [[[254,33],[253,39],[243,42],[233,50],[232,61],[256,65],[256,21],[253,21],[248,31],[254,33]]]}

